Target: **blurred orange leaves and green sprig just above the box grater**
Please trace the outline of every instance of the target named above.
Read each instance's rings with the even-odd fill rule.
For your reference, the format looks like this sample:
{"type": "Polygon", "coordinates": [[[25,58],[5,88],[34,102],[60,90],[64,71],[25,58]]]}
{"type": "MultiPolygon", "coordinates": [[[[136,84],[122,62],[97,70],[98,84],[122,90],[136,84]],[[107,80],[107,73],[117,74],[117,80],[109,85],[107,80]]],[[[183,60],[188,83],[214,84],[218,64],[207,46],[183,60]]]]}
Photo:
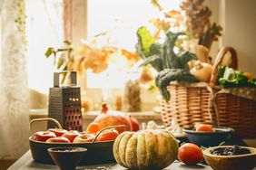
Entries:
{"type": "MultiPolygon", "coordinates": [[[[103,45],[97,47],[96,38],[92,42],[82,42],[73,46],[69,41],[64,41],[64,47],[49,47],[45,57],[54,57],[54,67],[57,71],[77,71],[82,74],[91,70],[94,73],[106,71],[110,62],[123,63],[126,68],[132,68],[134,63],[139,61],[136,52],[129,52],[125,49],[103,45]]],[[[64,73],[62,83],[66,80],[67,73],[64,73]]]]}

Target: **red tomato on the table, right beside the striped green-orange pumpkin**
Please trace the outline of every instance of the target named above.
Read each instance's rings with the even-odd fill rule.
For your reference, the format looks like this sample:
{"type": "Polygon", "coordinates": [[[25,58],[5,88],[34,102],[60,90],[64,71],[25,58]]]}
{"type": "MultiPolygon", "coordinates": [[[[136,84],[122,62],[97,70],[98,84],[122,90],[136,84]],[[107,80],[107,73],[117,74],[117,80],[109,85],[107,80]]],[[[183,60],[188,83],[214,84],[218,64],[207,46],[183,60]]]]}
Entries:
{"type": "Polygon", "coordinates": [[[180,146],[178,158],[184,164],[195,165],[200,163],[203,159],[202,150],[199,146],[187,143],[180,146]]]}

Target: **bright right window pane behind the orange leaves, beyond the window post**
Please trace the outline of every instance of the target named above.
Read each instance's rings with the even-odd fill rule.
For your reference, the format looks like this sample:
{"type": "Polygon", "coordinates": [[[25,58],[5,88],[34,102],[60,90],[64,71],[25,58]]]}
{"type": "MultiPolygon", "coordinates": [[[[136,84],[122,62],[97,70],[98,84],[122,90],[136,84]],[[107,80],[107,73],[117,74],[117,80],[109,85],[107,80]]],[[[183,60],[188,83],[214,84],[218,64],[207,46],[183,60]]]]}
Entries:
{"type": "MultiPolygon", "coordinates": [[[[153,29],[149,20],[161,17],[159,11],[150,2],[150,0],[88,1],[88,39],[93,39],[94,35],[102,33],[103,36],[97,39],[99,45],[108,44],[134,52],[137,29],[143,25],[153,29]]],[[[177,9],[179,3],[179,0],[166,1],[164,5],[168,9],[177,9]]],[[[87,71],[87,87],[123,88],[127,80],[127,69],[122,69],[121,64],[121,62],[112,62],[103,73],[94,74],[92,71],[87,71]],[[117,77],[118,80],[116,80],[117,77]]],[[[136,66],[132,69],[132,71],[137,70],[136,66]]]]}

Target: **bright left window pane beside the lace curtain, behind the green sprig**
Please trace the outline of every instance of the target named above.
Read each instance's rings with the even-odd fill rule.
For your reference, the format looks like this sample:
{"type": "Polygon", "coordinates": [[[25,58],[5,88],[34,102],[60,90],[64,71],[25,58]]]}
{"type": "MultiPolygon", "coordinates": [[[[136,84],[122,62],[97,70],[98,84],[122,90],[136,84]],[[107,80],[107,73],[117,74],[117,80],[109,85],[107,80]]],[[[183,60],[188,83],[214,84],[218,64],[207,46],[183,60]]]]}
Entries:
{"type": "Polygon", "coordinates": [[[53,87],[53,60],[44,52],[49,46],[60,46],[64,39],[62,0],[27,0],[27,72],[31,89],[48,93],[53,87]]]}

